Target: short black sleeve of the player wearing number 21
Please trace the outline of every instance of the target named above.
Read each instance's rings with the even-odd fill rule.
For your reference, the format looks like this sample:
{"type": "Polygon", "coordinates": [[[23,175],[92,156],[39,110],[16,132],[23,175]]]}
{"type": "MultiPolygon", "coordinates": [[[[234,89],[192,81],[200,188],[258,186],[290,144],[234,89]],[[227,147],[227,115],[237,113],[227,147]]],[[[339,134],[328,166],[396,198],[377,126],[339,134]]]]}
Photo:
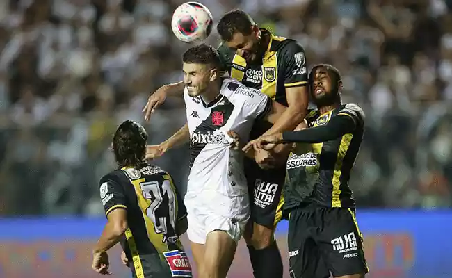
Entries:
{"type": "Polygon", "coordinates": [[[111,213],[116,208],[127,209],[126,197],[118,177],[107,174],[99,182],[100,199],[104,206],[105,215],[111,213]]]}

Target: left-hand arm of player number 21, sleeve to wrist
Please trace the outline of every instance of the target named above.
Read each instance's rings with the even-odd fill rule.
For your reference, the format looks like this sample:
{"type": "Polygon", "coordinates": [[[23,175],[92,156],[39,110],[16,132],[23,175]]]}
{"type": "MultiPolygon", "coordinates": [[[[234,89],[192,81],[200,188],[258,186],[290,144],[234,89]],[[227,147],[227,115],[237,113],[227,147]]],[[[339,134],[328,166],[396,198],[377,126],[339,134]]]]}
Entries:
{"type": "Polygon", "coordinates": [[[102,235],[95,245],[93,254],[108,251],[119,242],[129,227],[127,224],[127,206],[124,192],[115,179],[104,177],[100,181],[100,195],[107,217],[102,235]]]}

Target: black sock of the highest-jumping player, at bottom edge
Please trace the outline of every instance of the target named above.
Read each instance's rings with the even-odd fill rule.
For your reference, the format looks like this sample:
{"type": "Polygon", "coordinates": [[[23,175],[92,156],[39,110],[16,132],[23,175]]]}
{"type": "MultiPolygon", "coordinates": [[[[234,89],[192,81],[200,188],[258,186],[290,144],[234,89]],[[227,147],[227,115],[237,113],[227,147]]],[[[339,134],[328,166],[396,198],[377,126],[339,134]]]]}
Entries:
{"type": "Polygon", "coordinates": [[[261,250],[250,250],[250,258],[255,278],[282,278],[283,266],[276,240],[261,250]],[[254,258],[253,258],[254,256],[254,258]]]}

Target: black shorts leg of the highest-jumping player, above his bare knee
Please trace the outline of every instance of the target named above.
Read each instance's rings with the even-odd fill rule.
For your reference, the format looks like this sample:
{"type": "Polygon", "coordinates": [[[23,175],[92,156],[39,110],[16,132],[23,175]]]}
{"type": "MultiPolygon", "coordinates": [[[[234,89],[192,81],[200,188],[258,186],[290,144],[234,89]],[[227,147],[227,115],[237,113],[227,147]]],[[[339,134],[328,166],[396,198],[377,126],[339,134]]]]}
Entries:
{"type": "Polygon", "coordinates": [[[245,177],[250,194],[252,222],[273,229],[282,220],[285,165],[280,169],[263,170],[255,161],[246,159],[245,177]]]}

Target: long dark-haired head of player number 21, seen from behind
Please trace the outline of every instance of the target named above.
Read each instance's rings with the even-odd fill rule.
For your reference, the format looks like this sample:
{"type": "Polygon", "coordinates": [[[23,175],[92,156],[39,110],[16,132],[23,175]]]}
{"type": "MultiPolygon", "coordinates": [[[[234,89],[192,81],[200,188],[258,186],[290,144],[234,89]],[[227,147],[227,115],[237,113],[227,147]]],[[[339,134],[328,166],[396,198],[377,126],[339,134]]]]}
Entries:
{"type": "Polygon", "coordinates": [[[113,136],[113,153],[120,167],[138,166],[146,154],[147,133],[141,124],[123,122],[113,136]]]}

